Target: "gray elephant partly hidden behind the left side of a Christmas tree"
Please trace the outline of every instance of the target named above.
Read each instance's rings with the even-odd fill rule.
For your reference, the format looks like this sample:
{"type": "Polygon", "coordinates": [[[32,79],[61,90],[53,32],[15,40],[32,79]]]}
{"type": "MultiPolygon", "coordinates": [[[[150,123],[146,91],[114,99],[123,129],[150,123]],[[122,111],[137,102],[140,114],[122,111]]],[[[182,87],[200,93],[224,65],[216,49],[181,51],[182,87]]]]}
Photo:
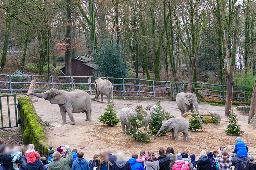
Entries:
{"type": "Polygon", "coordinates": [[[136,112],[136,110],[133,110],[131,108],[124,107],[121,110],[119,116],[120,116],[120,121],[121,121],[121,125],[122,125],[122,130],[123,130],[122,136],[124,136],[125,135],[125,127],[126,127],[126,132],[128,130],[131,132],[135,128],[132,126],[132,124],[129,123],[129,118],[136,117],[137,112],[136,112]],[[129,127],[129,129],[128,129],[128,127],[129,127]]]}

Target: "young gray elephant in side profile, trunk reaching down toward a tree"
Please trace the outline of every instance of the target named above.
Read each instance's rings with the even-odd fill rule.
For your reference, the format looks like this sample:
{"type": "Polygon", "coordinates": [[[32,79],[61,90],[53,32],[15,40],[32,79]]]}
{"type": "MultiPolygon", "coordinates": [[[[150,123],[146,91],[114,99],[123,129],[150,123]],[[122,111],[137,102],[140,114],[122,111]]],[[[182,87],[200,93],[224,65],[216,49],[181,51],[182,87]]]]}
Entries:
{"type": "Polygon", "coordinates": [[[157,132],[156,136],[154,139],[157,138],[157,136],[159,135],[159,133],[162,130],[171,130],[172,131],[172,140],[174,141],[179,141],[179,137],[178,137],[178,132],[182,132],[183,133],[183,141],[187,141],[189,142],[189,136],[188,136],[188,121],[186,118],[184,117],[174,117],[171,118],[169,120],[166,120],[165,122],[163,122],[161,128],[159,129],[159,131],[157,132]]]}

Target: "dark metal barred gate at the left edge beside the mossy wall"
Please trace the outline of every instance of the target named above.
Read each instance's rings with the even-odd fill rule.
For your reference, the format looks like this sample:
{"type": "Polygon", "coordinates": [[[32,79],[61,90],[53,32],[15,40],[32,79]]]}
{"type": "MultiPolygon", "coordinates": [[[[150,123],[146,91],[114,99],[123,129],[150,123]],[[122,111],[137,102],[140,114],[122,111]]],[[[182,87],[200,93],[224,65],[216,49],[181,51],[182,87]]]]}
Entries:
{"type": "Polygon", "coordinates": [[[19,119],[15,94],[0,95],[0,116],[0,129],[18,127],[19,119]]]}

